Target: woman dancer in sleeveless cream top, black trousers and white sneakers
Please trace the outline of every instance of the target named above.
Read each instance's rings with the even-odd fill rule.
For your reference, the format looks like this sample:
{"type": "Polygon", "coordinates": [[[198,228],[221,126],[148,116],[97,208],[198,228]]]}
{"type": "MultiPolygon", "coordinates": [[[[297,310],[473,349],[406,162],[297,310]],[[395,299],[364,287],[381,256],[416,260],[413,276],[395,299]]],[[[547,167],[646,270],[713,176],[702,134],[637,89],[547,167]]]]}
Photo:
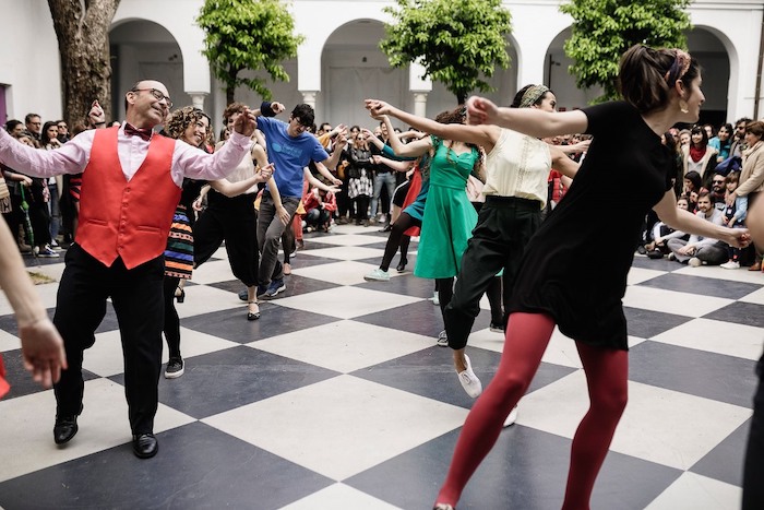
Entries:
{"type": "MultiPolygon", "coordinates": [[[[512,106],[554,111],[557,98],[545,85],[527,85],[517,93],[512,106]]],[[[465,347],[480,312],[480,297],[491,278],[503,270],[503,301],[508,303],[523,249],[541,224],[552,165],[570,178],[578,165],[557,146],[497,126],[442,124],[377,99],[367,99],[366,107],[372,116],[393,116],[444,140],[475,143],[487,153],[482,190],[486,203],[462,258],[453,298],[443,311],[459,382],[467,394],[477,398],[482,384],[470,367],[465,347]]],[[[502,325],[505,323],[506,315],[502,325]]]]}

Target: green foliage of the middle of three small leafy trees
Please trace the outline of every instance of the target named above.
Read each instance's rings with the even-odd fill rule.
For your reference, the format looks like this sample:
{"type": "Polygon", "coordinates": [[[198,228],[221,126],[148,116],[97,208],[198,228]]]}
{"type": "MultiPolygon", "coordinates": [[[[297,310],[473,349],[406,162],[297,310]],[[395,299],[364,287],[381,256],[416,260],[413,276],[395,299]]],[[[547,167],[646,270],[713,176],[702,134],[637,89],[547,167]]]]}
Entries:
{"type": "Polygon", "coordinates": [[[396,23],[385,25],[380,49],[391,66],[417,59],[425,75],[443,83],[463,103],[473,91],[491,90],[481,76],[506,69],[511,15],[501,0],[396,0],[384,11],[396,23]]]}

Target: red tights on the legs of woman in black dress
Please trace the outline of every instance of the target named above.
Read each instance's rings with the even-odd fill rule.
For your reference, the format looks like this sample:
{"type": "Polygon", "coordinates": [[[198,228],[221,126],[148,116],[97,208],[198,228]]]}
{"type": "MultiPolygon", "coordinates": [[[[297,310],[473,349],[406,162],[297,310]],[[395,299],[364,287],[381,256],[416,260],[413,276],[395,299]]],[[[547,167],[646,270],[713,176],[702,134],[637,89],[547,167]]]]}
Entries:
{"type": "MultiPolygon", "coordinates": [[[[438,495],[456,506],[467,481],[493,448],[504,418],[525,394],[549,344],[554,321],[541,313],[512,313],[496,377],[473,406],[438,495]]],[[[576,342],[586,373],[589,410],[573,437],[563,509],[588,509],[599,469],[626,405],[628,353],[576,342]]]]}

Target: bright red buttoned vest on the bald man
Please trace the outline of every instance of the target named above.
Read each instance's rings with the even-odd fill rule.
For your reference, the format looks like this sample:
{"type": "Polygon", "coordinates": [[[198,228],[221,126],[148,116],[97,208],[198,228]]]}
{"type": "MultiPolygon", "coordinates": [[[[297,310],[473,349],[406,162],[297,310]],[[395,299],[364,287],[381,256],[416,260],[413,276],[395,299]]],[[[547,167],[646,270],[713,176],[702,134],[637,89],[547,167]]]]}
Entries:
{"type": "Polygon", "coordinates": [[[118,131],[100,129],[93,138],[76,242],[107,268],[121,257],[133,269],[165,251],[180,188],[170,176],[175,140],[152,135],[146,158],[128,181],[117,153],[118,131]]]}

